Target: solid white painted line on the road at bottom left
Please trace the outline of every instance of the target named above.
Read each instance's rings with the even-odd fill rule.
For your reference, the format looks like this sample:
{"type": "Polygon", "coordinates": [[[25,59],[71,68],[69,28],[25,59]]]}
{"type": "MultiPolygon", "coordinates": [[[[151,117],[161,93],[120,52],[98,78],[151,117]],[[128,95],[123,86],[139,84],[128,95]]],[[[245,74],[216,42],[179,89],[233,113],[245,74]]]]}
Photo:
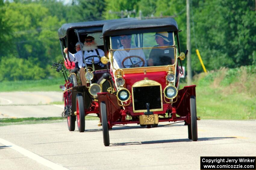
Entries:
{"type": "Polygon", "coordinates": [[[36,162],[41,163],[42,165],[45,165],[45,166],[47,166],[49,168],[56,169],[56,170],[59,170],[59,169],[67,170],[67,168],[64,168],[61,165],[58,165],[58,164],[53,163],[53,162],[51,162],[51,161],[49,161],[47,159],[44,159],[43,157],[41,157],[39,155],[36,155],[35,153],[30,152],[30,151],[28,151],[28,150],[26,150],[26,149],[24,149],[22,147],[19,147],[19,146],[15,145],[15,144],[13,144],[13,143],[11,143],[9,141],[6,141],[6,140],[0,138],[0,143],[2,143],[5,146],[8,146],[8,147],[18,151],[19,153],[29,157],[30,159],[35,160],[36,162]]]}

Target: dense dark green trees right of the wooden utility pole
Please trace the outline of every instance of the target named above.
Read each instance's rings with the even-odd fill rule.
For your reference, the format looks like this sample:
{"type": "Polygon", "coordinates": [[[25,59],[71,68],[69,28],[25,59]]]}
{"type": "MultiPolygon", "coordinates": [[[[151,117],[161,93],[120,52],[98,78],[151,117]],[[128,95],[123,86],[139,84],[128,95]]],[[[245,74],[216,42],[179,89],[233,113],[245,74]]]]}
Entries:
{"type": "MultiPolygon", "coordinates": [[[[251,65],[256,59],[256,18],[253,1],[193,3],[195,37],[208,70],[251,65]],[[195,9],[195,8],[194,8],[195,9]]],[[[195,39],[192,39],[195,42],[195,39]]],[[[192,46],[193,47],[193,46],[192,46]]],[[[195,50],[195,46],[193,51],[195,50]]],[[[201,70],[196,60],[195,71],[201,70]]]]}

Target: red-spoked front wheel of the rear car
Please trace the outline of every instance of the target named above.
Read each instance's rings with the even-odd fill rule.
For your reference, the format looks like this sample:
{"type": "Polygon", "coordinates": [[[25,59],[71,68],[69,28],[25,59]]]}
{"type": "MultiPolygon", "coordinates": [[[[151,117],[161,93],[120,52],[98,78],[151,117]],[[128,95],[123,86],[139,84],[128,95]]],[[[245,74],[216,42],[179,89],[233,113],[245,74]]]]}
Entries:
{"type": "Polygon", "coordinates": [[[76,94],[76,122],[79,132],[84,132],[85,129],[85,114],[83,108],[83,96],[82,94],[76,94]]]}

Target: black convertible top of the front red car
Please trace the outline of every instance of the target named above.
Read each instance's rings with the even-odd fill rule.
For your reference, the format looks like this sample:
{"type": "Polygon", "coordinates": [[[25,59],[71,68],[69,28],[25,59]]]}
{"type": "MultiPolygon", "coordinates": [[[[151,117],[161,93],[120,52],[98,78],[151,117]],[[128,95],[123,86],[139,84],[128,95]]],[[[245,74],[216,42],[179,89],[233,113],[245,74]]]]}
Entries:
{"type": "Polygon", "coordinates": [[[103,36],[118,36],[141,32],[178,31],[178,24],[173,18],[148,20],[110,21],[103,26],[103,36]]]}

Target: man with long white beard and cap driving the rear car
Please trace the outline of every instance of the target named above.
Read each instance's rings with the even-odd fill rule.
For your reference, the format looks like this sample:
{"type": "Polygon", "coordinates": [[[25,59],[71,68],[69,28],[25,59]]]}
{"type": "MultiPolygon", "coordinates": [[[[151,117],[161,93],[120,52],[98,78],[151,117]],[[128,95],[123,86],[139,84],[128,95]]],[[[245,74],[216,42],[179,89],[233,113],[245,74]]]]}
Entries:
{"type": "MultiPolygon", "coordinates": [[[[89,57],[89,56],[100,56],[103,57],[104,56],[104,51],[101,49],[98,49],[96,42],[94,41],[94,38],[92,36],[88,36],[85,38],[85,42],[84,42],[84,57],[89,57]]],[[[66,53],[66,57],[67,57],[67,48],[64,49],[64,53],[66,53]]],[[[86,85],[86,78],[85,78],[85,64],[83,63],[83,54],[82,54],[82,50],[78,51],[76,54],[71,54],[69,53],[69,58],[71,61],[73,62],[78,62],[78,66],[80,68],[80,79],[82,82],[82,85],[86,85]]],[[[68,57],[67,57],[68,58],[68,57]]],[[[104,65],[100,62],[98,57],[91,57],[86,59],[86,64],[92,64],[92,60],[94,61],[94,63],[98,63],[95,65],[96,70],[100,70],[102,67],[104,67],[104,65]]]]}

